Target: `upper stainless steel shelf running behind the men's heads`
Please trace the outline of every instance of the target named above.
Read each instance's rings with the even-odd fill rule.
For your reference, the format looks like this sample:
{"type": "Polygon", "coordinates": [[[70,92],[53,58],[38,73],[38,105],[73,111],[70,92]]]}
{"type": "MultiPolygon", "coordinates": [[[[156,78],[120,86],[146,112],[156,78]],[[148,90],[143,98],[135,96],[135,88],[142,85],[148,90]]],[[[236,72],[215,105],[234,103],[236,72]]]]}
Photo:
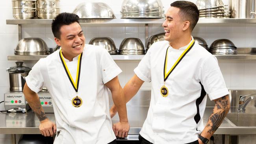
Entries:
{"type": "MultiPolygon", "coordinates": [[[[161,19],[80,19],[81,24],[162,24],[161,19]]],[[[6,24],[51,24],[52,19],[9,19],[6,24]]],[[[256,19],[200,18],[198,24],[256,23],[256,19]]]]}

